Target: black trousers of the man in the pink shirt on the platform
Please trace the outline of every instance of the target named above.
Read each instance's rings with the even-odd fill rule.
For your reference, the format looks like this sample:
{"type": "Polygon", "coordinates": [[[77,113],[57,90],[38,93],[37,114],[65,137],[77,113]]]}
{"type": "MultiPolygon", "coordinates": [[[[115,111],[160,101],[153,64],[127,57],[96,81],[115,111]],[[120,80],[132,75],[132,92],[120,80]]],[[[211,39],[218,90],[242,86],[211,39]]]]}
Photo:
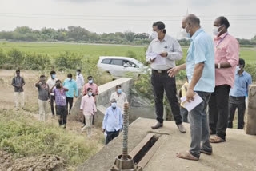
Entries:
{"type": "Polygon", "coordinates": [[[230,85],[215,86],[209,101],[209,125],[212,134],[226,139],[230,85]]]}

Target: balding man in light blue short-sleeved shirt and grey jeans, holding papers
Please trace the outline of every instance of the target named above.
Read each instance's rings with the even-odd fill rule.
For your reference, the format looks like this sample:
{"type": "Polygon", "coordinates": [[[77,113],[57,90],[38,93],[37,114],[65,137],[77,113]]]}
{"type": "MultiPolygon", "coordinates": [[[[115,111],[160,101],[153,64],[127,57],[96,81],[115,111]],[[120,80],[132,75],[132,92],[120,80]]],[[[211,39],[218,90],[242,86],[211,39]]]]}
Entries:
{"type": "Polygon", "coordinates": [[[174,77],[179,70],[186,69],[189,87],[186,92],[186,101],[192,105],[200,101],[190,111],[190,150],[177,153],[177,157],[198,161],[200,153],[212,154],[210,145],[210,128],[206,108],[210,94],[214,92],[214,42],[200,26],[200,20],[194,14],[189,14],[182,20],[182,33],[190,38],[191,44],[186,56],[186,64],[177,66],[168,71],[174,77]],[[202,142],[202,145],[201,145],[202,142]]]}

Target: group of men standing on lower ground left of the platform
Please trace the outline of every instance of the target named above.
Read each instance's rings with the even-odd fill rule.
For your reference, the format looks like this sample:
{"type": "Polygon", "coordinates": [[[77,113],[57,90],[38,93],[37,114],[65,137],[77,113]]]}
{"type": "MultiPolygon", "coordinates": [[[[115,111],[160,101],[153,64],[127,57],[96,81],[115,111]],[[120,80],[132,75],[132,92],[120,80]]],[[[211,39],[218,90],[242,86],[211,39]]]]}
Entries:
{"type": "MultiPolygon", "coordinates": [[[[94,127],[94,116],[96,109],[96,96],[98,95],[98,85],[94,83],[92,76],[89,76],[88,83],[85,84],[81,70],[77,70],[76,80],[72,74],[67,74],[66,80],[62,83],[56,78],[56,72],[50,71],[50,78],[46,81],[46,76],[41,75],[35,87],[38,88],[39,119],[46,121],[48,102],[52,117],[58,116],[58,123],[66,129],[67,115],[73,106],[74,97],[83,96],[80,110],[82,114],[82,131],[87,129],[88,136],[91,135],[91,128],[94,127]],[[54,106],[55,101],[55,106],[54,106]]],[[[21,104],[24,109],[24,78],[20,76],[20,70],[16,70],[13,78],[15,108],[18,110],[21,104]]],[[[123,106],[127,101],[126,93],[122,92],[122,86],[116,86],[116,92],[111,94],[110,107],[106,109],[106,114],[102,122],[103,133],[106,134],[106,144],[114,137],[117,137],[122,129],[123,106]]]]}

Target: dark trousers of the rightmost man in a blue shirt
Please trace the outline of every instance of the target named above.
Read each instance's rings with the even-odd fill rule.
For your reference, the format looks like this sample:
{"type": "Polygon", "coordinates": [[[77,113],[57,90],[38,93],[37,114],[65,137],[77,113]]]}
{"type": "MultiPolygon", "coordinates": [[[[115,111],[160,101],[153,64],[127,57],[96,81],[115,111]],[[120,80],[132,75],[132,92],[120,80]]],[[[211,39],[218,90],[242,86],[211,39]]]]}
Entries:
{"type": "Polygon", "coordinates": [[[246,97],[230,97],[228,128],[233,128],[235,110],[238,109],[238,129],[243,129],[246,111],[246,97]]]}

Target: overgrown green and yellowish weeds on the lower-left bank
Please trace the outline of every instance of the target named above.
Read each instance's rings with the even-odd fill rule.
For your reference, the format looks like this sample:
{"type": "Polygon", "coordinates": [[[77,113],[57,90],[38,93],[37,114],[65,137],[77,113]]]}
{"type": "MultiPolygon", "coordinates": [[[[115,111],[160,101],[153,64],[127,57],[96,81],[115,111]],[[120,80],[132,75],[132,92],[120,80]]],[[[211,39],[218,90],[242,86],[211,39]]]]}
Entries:
{"type": "Polygon", "coordinates": [[[86,140],[81,134],[37,121],[25,113],[0,111],[0,117],[0,149],[16,157],[54,154],[75,166],[102,146],[103,137],[100,142],[86,140]]]}

